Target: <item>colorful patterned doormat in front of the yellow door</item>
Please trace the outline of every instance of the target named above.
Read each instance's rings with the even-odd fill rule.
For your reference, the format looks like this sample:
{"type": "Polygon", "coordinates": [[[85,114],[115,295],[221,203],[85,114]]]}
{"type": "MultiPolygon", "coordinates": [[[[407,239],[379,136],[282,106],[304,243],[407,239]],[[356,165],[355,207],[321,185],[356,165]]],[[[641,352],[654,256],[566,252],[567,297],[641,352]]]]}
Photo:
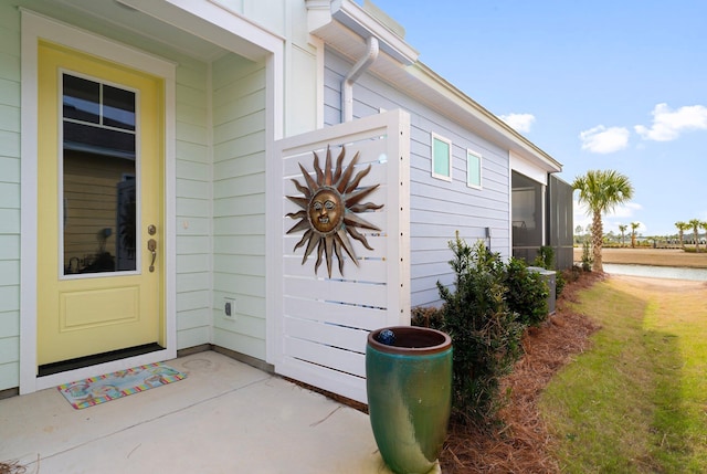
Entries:
{"type": "Polygon", "coordinates": [[[187,375],[158,362],[64,383],[56,389],[76,410],[186,379],[187,375]]]}

